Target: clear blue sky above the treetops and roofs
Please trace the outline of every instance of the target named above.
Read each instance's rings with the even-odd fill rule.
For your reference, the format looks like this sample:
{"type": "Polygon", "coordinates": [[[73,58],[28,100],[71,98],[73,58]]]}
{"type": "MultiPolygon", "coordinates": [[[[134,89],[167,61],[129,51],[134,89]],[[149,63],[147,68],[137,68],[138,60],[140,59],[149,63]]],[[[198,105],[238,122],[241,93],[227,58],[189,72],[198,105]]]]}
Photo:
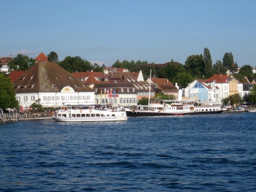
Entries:
{"type": "Polygon", "coordinates": [[[1,1],[0,55],[55,51],[111,66],[116,60],[185,63],[210,50],[256,65],[254,0],[1,1]]]}

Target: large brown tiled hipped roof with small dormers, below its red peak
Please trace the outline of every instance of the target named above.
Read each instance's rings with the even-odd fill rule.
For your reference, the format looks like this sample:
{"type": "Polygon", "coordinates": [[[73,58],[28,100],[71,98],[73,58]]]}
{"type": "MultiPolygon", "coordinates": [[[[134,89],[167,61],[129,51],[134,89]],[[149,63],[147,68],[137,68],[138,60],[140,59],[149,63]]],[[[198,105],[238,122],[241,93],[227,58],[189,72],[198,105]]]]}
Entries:
{"type": "Polygon", "coordinates": [[[54,62],[37,62],[14,81],[17,93],[60,92],[71,86],[75,92],[93,91],[54,62]]]}

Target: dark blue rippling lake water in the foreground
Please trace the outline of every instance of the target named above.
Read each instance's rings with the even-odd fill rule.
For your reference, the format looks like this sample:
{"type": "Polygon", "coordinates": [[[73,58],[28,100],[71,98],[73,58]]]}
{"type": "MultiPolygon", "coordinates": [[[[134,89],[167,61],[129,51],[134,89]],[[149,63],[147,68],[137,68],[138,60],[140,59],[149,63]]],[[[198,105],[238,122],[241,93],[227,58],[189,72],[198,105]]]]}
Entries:
{"type": "Polygon", "coordinates": [[[256,191],[255,117],[0,123],[0,190],[256,191]]]}

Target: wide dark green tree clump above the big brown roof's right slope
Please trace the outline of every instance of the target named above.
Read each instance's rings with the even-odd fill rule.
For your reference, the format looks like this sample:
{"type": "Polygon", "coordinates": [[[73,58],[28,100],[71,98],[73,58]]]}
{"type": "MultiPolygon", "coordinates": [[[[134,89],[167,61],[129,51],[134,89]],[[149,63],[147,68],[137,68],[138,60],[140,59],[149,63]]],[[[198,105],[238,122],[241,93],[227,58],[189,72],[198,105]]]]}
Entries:
{"type": "Polygon", "coordinates": [[[60,67],[67,70],[69,73],[73,73],[75,71],[84,72],[91,71],[91,63],[87,60],[82,59],[79,56],[76,57],[66,57],[63,61],[59,63],[60,67]]]}

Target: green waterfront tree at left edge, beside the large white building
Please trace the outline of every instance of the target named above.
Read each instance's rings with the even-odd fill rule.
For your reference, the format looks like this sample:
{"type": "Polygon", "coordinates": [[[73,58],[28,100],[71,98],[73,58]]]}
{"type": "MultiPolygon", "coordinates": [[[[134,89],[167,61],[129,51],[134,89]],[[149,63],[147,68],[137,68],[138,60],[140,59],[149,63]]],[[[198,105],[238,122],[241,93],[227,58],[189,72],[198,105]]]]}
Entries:
{"type": "Polygon", "coordinates": [[[0,108],[19,108],[19,102],[16,99],[14,85],[9,77],[0,74],[0,108]]]}

